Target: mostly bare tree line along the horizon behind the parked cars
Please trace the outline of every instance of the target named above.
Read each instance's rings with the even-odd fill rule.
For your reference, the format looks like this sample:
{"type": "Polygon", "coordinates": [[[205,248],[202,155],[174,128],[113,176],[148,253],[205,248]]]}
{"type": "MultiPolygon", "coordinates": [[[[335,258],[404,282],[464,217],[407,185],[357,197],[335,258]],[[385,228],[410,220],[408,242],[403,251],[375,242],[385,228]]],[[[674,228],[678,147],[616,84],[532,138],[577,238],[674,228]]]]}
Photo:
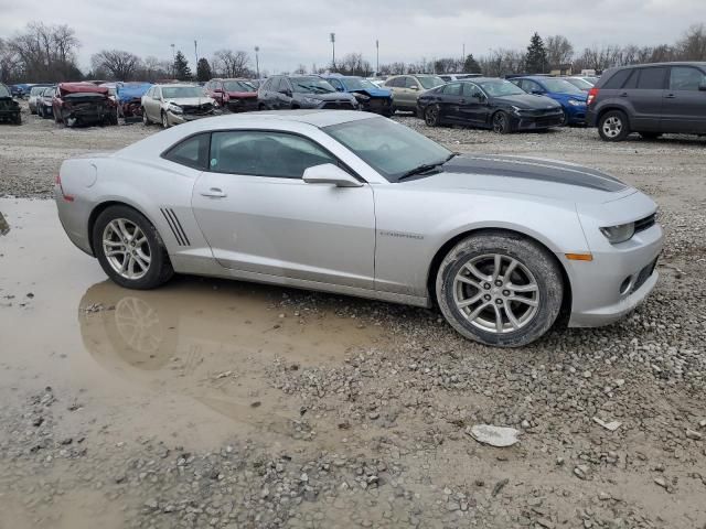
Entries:
{"type": "MultiPolygon", "coordinates": [[[[124,50],[101,50],[90,57],[90,69],[82,72],[77,65],[81,42],[73,29],[65,24],[46,25],[30,22],[14,36],[0,37],[0,80],[4,83],[41,83],[81,79],[149,80],[179,79],[205,82],[213,77],[247,77],[257,75],[253,57],[244,51],[220,50],[208,60],[201,57],[192,72],[186,56],[178,51],[173,61],[156,56],[140,57],[124,50]]],[[[543,39],[534,33],[525,50],[496,48],[475,58],[442,57],[379,65],[379,75],[416,73],[479,73],[491,77],[507,74],[541,74],[552,72],[578,73],[581,69],[603,69],[628,64],[667,61],[706,61],[706,26],[692,25],[673,44],[635,46],[603,44],[576,52],[564,35],[543,39]]],[[[370,76],[374,66],[361,53],[349,53],[334,64],[310,68],[300,64],[293,73],[336,72],[343,75],[370,76]]],[[[282,72],[285,73],[285,72],[282,72]]],[[[267,72],[260,72],[266,76],[267,72]]]]}

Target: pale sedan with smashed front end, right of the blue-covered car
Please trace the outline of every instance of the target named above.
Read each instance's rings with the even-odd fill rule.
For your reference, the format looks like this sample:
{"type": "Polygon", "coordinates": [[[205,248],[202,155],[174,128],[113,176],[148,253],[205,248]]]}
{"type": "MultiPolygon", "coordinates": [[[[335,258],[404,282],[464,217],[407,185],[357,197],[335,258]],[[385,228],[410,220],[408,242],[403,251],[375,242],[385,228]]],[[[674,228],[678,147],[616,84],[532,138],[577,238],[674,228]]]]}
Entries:
{"type": "Polygon", "coordinates": [[[216,101],[196,85],[154,85],[142,96],[142,122],[172,125],[216,114],[216,101]]]}

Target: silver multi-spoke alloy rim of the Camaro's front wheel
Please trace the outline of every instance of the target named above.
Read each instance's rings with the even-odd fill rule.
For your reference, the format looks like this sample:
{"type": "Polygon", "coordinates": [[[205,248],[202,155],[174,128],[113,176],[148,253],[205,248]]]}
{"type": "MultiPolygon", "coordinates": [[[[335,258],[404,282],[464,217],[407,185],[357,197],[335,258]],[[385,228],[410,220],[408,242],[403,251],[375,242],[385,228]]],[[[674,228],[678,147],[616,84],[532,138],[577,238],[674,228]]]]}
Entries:
{"type": "Polygon", "coordinates": [[[470,259],[453,280],[453,301],[471,325],[495,334],[525,327],[539,309],[539,287],[517,259],[486,253],[470,259]]]}

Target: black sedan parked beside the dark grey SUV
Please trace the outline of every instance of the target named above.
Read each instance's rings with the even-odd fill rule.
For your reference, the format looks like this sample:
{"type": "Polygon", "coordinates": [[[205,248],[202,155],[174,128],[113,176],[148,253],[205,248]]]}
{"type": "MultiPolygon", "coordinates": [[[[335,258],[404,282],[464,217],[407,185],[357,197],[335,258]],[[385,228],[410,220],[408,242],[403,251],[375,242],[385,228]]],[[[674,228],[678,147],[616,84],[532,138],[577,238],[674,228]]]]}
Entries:
{"type": "Polygon", "coordinates": [[[554,99],[488,77],[448,83],[424,93],[417,99],[417,115],[430,127],[458,123],[501,134],[559,127],[564,120],[561,105],[554,99]]]}

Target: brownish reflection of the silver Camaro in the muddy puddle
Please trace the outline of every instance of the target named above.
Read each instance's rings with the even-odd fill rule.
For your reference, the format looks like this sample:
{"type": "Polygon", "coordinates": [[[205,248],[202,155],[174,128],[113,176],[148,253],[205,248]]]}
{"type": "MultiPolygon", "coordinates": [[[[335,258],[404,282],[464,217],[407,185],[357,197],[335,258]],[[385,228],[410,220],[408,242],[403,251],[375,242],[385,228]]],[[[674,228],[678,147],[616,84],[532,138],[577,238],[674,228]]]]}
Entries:
{"type": "Polygon", "coordinates": [[[106,281],[86,291],[78,321],[86,349],[110,374],[286,434],[299,409],[271,387],[274,360],[339,363],[378,342],[382,331],[336,316],[333,299],[282,306],[282,292],[193,278],[154,291],[106,281]]]}

